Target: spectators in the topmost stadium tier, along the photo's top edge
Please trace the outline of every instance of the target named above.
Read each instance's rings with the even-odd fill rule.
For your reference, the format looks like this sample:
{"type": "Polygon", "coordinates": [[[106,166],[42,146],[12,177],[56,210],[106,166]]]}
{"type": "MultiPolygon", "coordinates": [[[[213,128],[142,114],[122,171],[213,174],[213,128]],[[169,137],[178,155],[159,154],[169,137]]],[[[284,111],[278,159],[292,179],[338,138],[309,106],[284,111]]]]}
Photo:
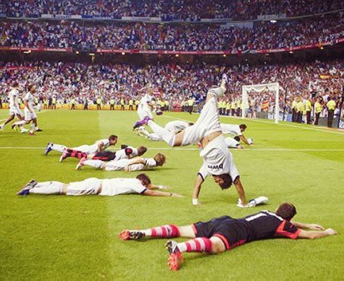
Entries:
{"type": "Polygon", "coordinates": [[[41,14],[97,15],[120,19],[159,17],[162,20],[193,20],[201,18],[257,19],[258,15],[310,15],[344,8],[340,0],[14,0],[4,1],[0,13],[8,17],[37,17],[41,14]]]}

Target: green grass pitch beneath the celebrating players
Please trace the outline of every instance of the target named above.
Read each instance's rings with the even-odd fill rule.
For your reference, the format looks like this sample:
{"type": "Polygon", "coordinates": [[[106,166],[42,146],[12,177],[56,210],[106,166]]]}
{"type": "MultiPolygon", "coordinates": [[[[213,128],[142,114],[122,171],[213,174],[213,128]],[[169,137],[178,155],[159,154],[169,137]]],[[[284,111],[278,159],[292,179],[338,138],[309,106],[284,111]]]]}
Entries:
{"type": "MultiPolygon", "coordinates": [[[[7,110],[0,111],[0,119],[7,110]]],[[[221,191],[211,179],[191,204],[195,175],[201,166],[197,149],[170,149],[131,131],[135,112],[42,111],[36,136],[0,132],[0,279],[1,280],[343,280],[343,235],[319,240],[265,240],[218,255],[185,254],[178,272],[166,265],[166,240],[123,242],[126,228],[161,224],[185,225],[230,214],[244,217],[274,211],[289,201],[298,209],[296,221],[322,224],[343,233],[344,133],[310,125],[249,121],[246,137],[255,145],[232,151],[248,198],[267,196],[267,206],[240,209],[233,188],[221,191]],[[76,159],[59,163],[60,154],[44,156],[48,141],[78,146],[119,136],[119,144],[159,148],[167,163],[147,172],[157,184],[171,186],[184,198],[145,196],[16,196],[29,179],[79,181],[87,177],[135,177],[137,172],[75,170],[76,159]],[[20,149],[15,149],[20,147],[20,149]]],[[[197,114],[167,113],[157,123],[197,114]]],[[[240,119],[221,118],[225,123],[240,119]]],[[[117,147],[119,146],[117,144],[117,147]]],[[[195,148],[196,146],[190,146],[195,148]]],[[[178,241],[185,239],[179,238],[178,241]]]]}

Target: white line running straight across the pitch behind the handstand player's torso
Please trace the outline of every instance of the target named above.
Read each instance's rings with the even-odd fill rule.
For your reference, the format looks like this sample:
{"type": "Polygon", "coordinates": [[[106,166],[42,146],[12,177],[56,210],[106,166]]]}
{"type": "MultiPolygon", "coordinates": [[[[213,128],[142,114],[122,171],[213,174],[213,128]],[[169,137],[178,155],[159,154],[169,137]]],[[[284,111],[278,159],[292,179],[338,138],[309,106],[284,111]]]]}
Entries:
{"type": "MultiPolygon", "coordinates": [[[[37,146],[0,146],[0,149],[45,149],[45,147],[37,147],[37,146]]],[[[169,147],[152,147],[148,148],[149,150],[173,150],[173,151],[199,151],[197,148],[169,148],[169,147]]],[[[120,149],[112,149],[112,150],[120,150],[120,149]]],[[[232,149],[231,149],[232,150],[232,149]]],[[[237,151],[237,149],[235,149],[237,151]]],[[[241,149],[239,151],[344,151],[344,149],[241,149]]]]}

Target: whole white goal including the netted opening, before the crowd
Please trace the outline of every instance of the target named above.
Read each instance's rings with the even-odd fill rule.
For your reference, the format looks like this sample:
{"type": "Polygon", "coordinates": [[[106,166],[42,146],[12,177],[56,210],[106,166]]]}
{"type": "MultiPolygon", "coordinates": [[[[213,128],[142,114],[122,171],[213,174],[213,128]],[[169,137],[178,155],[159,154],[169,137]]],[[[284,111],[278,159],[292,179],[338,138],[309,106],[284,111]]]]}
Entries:
{"type": "Polygon", "coordinates": [[[279,83],[267,83],[242,86],[242,118],[248,112],[257,110],[272,114],[274,123],[279,121],[279,83]],[[263,104],[266,104],[266,108],[263,104]]]}

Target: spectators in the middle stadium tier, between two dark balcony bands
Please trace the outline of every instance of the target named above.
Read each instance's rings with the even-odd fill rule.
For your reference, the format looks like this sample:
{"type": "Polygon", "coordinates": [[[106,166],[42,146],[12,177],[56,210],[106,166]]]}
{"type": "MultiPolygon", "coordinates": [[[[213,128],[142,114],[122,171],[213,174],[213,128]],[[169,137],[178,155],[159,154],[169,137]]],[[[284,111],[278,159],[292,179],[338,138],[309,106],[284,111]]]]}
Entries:
{"type": "Polygon", "coordinates": [[[232,50],[245,52],[333,42],[344,37],[343,13],[317,21],[265,22],[253,29],[216,25],[3,22],[0,46],[140,50],[232,50]]]}

